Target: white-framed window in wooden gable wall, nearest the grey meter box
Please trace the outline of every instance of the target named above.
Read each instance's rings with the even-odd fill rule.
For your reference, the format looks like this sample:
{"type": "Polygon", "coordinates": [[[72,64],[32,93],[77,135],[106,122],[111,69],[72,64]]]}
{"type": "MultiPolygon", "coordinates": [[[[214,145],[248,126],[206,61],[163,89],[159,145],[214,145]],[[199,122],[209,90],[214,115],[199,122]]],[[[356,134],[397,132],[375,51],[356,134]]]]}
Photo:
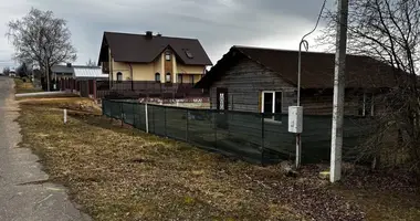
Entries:
{"type": "Polygon", "coordinates": [[[282,92],[262,92],[261,113],[265,118],[281,120],[282,107],[282,92]]]}

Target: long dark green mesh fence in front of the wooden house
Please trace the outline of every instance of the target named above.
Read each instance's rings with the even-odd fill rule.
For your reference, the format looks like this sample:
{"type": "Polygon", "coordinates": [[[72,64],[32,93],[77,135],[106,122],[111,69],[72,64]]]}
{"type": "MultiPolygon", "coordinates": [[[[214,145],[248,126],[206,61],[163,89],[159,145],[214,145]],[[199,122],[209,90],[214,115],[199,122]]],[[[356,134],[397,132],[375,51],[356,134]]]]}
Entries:
{"type": "MultiPolygon", "coordinates": [[[[295,135],[287,131],[287,115],[192,109],[130,101],[102,103],[103,114],[150,134],[190,143],[250,162],[269,165],[295,157],[295,135]]],[[[357,157],[355,147],[367,134],[367,118],[345,118],[345,160],[357,157]]],[[[329,160],[330,116],[304,116],[302,161],[329,160]]]]}

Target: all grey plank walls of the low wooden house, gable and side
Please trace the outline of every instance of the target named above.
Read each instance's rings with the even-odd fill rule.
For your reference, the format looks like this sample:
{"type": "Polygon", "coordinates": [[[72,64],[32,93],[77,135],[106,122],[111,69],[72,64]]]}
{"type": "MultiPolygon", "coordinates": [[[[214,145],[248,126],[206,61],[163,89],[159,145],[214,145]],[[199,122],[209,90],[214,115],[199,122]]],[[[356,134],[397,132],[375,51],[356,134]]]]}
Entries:
{"type": "MultiPolygon", "coordinates": [[[[210,107],[217,108],[217,88],[228,90],[228,107],[231,110],[261,112],[261,92],[283,92],[282,113],[296,105],[295,85],[259,63],[243,57],[220,73],[220,78],[210,87],[210,107]]],[[[376,99],[376,98],[375,98],[376,99]]],[[[333,90],[302,90],[301,105],[306,115],[332,115],[333,90]]],[[[378,112],[375,104],[375,114],[378,112]]],[[[345,115],[359,116],[363,107],[363,90],[348,88],[345,97],[345,115]]]]}

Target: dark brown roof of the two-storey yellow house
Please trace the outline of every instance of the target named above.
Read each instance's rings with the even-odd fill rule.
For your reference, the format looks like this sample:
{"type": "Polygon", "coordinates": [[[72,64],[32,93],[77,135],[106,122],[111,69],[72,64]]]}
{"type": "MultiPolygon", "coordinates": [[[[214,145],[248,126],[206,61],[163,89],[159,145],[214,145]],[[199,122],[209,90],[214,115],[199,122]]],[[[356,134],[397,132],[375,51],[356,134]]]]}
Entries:
{"type": "Polygon", "coordinates": [[[197,39],[180,39],[169,36],[153,35],[146,38],[146,34],[129,34],[104,32],[101,49],[99,62],[107,62],[107,46],[116,62],[150,63],[165,49],[170,48],[185,64],[190,65],[211,65],[211,61],[204,49],[197,39]],[[188,57],[186,51],[189,51],[193,57],[188,57]]]}

